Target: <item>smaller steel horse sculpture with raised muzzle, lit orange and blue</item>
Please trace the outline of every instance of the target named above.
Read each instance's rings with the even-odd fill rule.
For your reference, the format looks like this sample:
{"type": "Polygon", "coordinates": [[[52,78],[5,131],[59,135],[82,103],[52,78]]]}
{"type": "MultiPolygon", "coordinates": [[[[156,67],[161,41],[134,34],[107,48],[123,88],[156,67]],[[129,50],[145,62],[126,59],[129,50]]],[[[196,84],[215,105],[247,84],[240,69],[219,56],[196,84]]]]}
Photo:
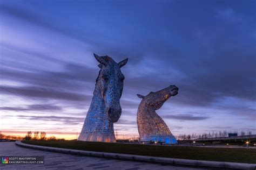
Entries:
{"type": "Polygon", "coordinates": [[[156,92],[150,92],[146,96],[137,95],[142,98],[137,112],[137,124],[140,141],[161,141],[167,144],[177,143],[168,126],[158,116],[156,110],[171,96],[178,94],[178,87],[171,85],[156,92]]]}

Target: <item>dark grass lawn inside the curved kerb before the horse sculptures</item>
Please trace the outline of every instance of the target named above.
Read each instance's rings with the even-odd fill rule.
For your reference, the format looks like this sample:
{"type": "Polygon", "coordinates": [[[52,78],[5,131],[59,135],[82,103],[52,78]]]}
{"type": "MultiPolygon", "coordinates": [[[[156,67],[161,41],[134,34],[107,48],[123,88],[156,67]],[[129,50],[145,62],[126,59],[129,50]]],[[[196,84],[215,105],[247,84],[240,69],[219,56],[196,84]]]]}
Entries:
{"type": "Polygon", "coordinates": [[[90,141],[41,141],[25,140],[25,144],[70,148],[75,150],[126,153],[153,157],[242,162],[256,164],[256,149],[253,148],[211,148],[189,146],[159,146],[120,143],[98,143],[90,141]]]}

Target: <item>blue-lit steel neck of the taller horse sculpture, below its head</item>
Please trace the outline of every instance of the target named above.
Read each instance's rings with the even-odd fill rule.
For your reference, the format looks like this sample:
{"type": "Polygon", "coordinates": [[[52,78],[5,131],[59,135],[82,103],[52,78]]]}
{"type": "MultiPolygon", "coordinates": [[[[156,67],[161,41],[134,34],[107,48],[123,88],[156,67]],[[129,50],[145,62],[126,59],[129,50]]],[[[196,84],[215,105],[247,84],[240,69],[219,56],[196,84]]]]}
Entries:
{"type": "Polygon", "coordinates": [[[105,101],[100,93],[99,83],[96,83],[92,102],[85,118],[82,134],[78,140],[115,142],[113,123],[109,121],[105,101]],[[104,134],[104,135],[102,135],[104,134]]]}

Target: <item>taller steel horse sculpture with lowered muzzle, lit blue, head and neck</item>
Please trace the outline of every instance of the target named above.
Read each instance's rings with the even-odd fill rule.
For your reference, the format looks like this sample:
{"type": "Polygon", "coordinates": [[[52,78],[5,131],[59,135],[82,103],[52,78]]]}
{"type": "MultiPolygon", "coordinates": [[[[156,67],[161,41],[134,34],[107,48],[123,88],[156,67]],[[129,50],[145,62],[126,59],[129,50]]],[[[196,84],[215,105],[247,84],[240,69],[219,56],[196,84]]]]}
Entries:
{"type": "Polygon", "coordinates": [[[116,142],[113,123],[121,116],[120,97],[123,92],[124,75],[121,72],[128,59],[119,63],[110,56],[98,56],[99,75],[78,140],[116,142]]]}

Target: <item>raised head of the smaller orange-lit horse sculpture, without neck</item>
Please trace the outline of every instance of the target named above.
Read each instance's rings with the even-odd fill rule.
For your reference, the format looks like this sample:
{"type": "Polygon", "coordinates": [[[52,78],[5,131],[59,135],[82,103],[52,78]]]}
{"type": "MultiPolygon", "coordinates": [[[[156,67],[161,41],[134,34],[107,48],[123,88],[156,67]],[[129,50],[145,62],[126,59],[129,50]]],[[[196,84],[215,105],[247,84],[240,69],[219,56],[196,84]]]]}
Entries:
{"type": "Polygon", "coordinates": [[[139,98],[143,98],[143,102],[146,103],[147,107],[154,108],[157,110],[161,108],[161,106],[166,102],[171,96],[175,96],[178,94],[179,88],[175,85],[171,85],[167,88],[156,92],[150,92],[148,95],[138,95],[139,98]]]}

